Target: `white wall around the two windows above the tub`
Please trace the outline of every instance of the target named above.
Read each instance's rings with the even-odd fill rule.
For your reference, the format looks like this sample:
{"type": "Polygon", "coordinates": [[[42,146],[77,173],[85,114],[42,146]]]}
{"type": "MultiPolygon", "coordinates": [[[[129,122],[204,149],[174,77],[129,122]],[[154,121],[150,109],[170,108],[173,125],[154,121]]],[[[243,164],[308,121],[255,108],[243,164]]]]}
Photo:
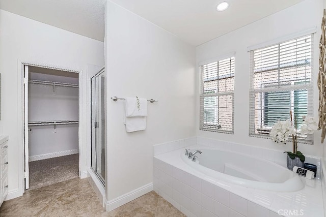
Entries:
{"type": "MultiPolygon", "coordinates": [[[[313,83],[317,84],[318,42],[323,0],[306,0],[288,9],[265,17],[239,28],[220,38],[197,47],[197,63],[214,57],[235,52],[235,92],[234,92],[234,135],[199,130],[199,87],[197,85],[197,136],[215,138],[230,142],[254,145],[269,149],[291,150],[291,145],[282,146],[269,139],[249,137],[249,88],[250,66],[247,47],[288,36],[317,26],[315,34],[313,63],[313,83]]],[[[199,76],[196,77],[199,84],[199,76]]],[[[314,115],[318,116],[318,87],[314,85],[314,115]]],[[[320,132],[314,134],[314,145],[299,144],[304,154],[321,156],[320,132]]]]}

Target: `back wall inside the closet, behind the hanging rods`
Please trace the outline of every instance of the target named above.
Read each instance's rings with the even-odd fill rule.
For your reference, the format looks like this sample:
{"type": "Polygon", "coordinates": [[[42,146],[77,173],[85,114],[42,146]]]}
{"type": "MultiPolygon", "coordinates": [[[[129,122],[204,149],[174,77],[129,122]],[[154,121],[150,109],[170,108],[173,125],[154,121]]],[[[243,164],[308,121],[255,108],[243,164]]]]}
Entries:
{"type": "MultiPolygon", "coordinates": [[[[30,73],[30,80],[78,84],[78,78],[30,73]]],[[[29,84],[29,122],[78,120],[78,87],[29,84]]],[[[30,161],[78,152],[78,124],[29,126],[30,161]]]]}

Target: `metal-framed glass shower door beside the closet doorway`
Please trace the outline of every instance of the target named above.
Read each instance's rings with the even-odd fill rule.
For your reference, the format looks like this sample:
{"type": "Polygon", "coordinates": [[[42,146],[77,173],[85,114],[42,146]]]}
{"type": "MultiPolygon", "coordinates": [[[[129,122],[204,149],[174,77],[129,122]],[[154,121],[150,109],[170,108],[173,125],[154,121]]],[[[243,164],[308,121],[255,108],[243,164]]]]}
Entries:
{"type": "Polygon", "coordinates": [[[105,77],[104,69],[91,79],[91,167],[105,185],[105,77]]]}

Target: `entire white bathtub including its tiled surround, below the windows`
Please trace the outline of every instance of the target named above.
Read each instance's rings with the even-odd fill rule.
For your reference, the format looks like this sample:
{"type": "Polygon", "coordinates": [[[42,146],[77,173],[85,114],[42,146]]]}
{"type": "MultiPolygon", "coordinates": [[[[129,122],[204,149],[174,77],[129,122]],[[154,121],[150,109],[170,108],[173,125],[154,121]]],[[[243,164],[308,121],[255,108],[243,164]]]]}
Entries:
{"type": "MultiPolygon", "coordinates": [[[[153,146],[153,189],[186,216],[288,216],[289,211],[324,216],[323,178],[317,173],[305,179],[273,163],[286,162],[285,153],[201,137],[199,144],[195,141],[153,146]],[[253,155],[236,153],[235,147],[253,155]],[[185,148],[203,153],[192,162],[184,158],[185,148]],[[257,158],[258,153],[271,154],[270,161],[257,158]]],[[[320,165],[320,159],[306,156],[306,161],[320,165]]]]}

